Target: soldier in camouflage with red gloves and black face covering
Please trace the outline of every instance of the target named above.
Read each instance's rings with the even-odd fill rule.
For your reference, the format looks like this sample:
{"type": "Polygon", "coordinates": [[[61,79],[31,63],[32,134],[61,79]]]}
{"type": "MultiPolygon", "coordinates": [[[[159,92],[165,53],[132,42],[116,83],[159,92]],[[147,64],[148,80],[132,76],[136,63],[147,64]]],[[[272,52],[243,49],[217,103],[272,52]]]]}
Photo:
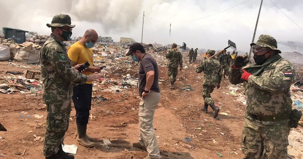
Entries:
{"type": "Polygon", "coordinates": [[[287,158],[292,104],[289,89],[296,73],[293,64],[279,55],[281,51],[272,36],[260,35],[250,46],[256,64],[242,69],[240,74],[245,62],[239,56],[230,77],[241,78],[246,89],[244,158],[261,158],[264,150],[264,158],[287,158]]]}

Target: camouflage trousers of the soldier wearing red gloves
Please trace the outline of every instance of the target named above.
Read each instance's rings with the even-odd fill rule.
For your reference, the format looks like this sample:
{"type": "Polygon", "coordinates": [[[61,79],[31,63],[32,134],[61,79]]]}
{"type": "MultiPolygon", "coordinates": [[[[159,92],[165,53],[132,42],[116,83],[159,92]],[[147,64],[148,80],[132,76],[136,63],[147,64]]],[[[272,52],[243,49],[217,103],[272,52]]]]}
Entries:
{"type": "Polygon", "coordinates": [[[242,152],[244,159],[287,158],[289,120],[263,122],[245,115],[242,131],[242,152]],[[264,151],[265,150],[265,151],[264,151]]]}

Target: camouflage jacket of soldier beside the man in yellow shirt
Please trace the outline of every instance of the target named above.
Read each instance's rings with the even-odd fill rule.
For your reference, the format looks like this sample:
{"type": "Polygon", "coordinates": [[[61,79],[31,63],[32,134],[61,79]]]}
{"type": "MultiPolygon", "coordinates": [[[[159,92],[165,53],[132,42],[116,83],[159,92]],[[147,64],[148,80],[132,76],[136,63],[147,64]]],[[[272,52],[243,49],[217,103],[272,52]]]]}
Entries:
{"type": "Polygon", "coordinates": [[[84,84],[87,80],[86,75],[77,73],[71,67],[65,46],[51,34],[40,51],[42,97],[46,104],[71,99],[71,83],[84,84]]]}

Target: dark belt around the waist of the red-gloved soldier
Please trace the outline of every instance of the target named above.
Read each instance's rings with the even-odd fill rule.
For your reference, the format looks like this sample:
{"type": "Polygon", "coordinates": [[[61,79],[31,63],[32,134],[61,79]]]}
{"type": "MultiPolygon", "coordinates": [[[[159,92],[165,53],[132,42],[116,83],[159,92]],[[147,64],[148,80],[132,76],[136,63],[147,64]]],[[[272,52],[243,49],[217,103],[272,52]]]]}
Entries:
{"type": "Polygon", "coordinates": [[[282,121],[282,120],[290,119],[290,114],[285,114],[285,113],[283,113],[283,114],[280,113],[280,114],[276,114],[273,116],[258,116],[258,115],[249,114],[249,113],[247,113],[247,115],[249,117],[251,117],[252,119],[256,119],[256,120],[264,121],[264,122],[282,121]]]}

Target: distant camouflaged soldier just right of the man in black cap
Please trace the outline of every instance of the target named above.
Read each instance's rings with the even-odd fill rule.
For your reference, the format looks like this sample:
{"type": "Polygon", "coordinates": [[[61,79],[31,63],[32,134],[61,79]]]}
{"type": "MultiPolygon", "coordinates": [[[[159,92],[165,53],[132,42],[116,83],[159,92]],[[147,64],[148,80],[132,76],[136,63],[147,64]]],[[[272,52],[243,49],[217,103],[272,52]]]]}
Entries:
{"type": "MultiPolygon", "coordinates": [[[[176,48],[177,44],[173,43],[172,49],[176,48]]],[[[176,77],[178,75],[178,66],[180,65],[180,71],[182,71],[182,55],[180,51],[177,51],[176,49],[169,50],[165,56],[168,59],[167,67],[168,67],[168,76],[169,76],[169,81],[171,83],[171,89],[174,89],[175,82],[176,82],[176,77]]]]}

